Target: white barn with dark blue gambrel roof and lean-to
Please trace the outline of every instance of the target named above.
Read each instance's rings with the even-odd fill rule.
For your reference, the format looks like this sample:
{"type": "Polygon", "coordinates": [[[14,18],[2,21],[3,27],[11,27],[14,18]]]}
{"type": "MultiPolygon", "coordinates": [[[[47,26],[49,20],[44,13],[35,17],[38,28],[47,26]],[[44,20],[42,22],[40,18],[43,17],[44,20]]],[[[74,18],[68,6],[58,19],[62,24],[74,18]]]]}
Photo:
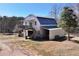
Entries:
{"type": "Polygon", "coordinates": [[[27,16],[23,21],[23,26],[23,36],[33,39],[54,39],[55,30],[58,29],[55,19],[35,15],[27,16]]]}

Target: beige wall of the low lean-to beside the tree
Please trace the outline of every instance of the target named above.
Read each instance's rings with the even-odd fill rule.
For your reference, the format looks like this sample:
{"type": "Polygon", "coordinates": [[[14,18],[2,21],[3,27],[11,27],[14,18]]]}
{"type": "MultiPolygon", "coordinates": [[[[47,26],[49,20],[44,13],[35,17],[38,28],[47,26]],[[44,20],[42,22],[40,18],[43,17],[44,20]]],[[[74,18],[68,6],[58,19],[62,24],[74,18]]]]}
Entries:
{"type": "Polygon", "coordinates": [[[65,35],[65,31],[62,30],[61,28],[54,28],[52,30],[49,30],[49,39],[52,40],[55,38],[55,36],[58,35],[60,37],[65,35]]]}

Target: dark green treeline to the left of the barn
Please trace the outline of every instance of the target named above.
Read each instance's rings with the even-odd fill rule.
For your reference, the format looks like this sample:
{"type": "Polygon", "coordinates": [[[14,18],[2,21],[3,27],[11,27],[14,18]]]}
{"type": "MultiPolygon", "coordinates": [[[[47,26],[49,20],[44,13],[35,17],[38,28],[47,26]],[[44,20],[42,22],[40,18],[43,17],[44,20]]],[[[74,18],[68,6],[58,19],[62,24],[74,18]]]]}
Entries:
{"type": "Polygon", "coordinates": [[[16,25],[21,25],[24,17],[0,16],[0,33],[12,33],[16,25]]]}

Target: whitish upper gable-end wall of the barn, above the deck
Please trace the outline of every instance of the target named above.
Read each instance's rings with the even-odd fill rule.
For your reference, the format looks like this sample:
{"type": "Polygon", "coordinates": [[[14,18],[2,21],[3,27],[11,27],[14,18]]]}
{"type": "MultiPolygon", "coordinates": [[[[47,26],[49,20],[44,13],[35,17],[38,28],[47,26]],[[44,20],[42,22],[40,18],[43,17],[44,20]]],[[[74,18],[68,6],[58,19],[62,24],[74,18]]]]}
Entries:
{"type": "Polygon", "coordinates": [[[30,25],[29,24],[30,22],[32,22],[32,27],[36,31],[39,31],[40,30],[40,23],[39,23],[38,19],[35,16],[28,16],[28,17],[26,17],[25,18],[25,21],[24,21],[24,25],[30,25]],[[35,25],[35,22],[37,23],[36,25],[35,25]]]}

